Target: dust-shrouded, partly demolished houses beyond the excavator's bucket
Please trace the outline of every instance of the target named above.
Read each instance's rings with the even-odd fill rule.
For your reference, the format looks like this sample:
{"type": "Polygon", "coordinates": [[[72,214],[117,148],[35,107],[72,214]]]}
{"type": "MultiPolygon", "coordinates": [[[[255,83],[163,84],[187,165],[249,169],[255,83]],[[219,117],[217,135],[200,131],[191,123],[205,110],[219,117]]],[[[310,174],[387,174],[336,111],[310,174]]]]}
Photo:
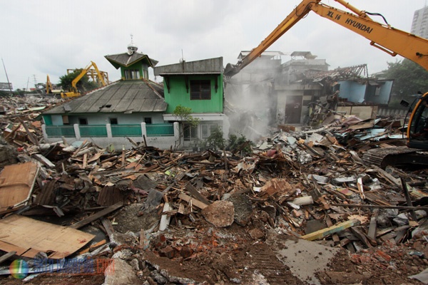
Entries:
{"type": "Polygon", "coordinates": [[[327,117],[331,123],[335,114],[376,118],[389,103],[393,81],[369,78],[365,64],[329,71],[325,59],[309,51],[290,53],[291,59],[281,63],[284,55],[265,51],[226,83],[231,125],[247,130],[249,138],[277,125],[316,126],[327,117]]]}

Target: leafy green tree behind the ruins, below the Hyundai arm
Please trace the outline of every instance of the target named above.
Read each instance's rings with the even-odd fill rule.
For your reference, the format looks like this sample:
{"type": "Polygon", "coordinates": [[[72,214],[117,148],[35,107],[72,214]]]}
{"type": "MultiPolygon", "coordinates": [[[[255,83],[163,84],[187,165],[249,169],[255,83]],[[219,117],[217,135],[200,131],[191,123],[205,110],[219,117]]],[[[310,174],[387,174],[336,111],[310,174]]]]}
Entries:
{"type": "Polygon", "coordinates": [[[389,105],[399,105],[400,100],[409,100],[411,95],[418,91],[422,93],[428,91],[428,71],[408,59],[388,63],[384,77],[394,79],[392,100],[390,100],[389,105]]]}

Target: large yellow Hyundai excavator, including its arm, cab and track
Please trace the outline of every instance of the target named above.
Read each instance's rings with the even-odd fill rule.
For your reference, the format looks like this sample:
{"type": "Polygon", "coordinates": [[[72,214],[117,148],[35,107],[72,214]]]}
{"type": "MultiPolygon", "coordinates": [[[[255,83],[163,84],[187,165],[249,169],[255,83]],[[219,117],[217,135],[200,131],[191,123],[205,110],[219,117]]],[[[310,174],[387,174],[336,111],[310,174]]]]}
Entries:
{"type": "MultiPolygon", "coordinates": [[[[361,11],[350,5],[347,1],[335,0],[337,3],[345,6],[349,11],[342,11],[332,6],[327,6],[321,3],[321,0],[303,0],[278,26],[270,33],[259,46],[253,48],[247,56],[233,65],[228,63],[225,67],[224,76],[226,80],[230,79],[235,74],[239,73],[245,66],[261,56],[263,51],[266,51],[278,38],[286,33],[298,21],[304,18],[310,11],[322,16],[325,19],[344,26],[345,28],[358,33],[370,40],[370,45],[380,50],[389,53],[391,56],[402,56],[425,68],[428,71],[428,40],[415,36],[406,31],[400,31],[397,28],[390,26],[384,16],[378,13],[369,13],[361,11]],[[380,16],[384,20],[384,24],[374,21],[370,16],[380,16]]],[[[409,93],[414,93],[409,91],[409,93]]],[[[394,156],[389,164],[394,164],[395,160],[403,160],[400,154],[408,154],[417,152],[417,150],[428,150],[428,93],[421,95],[409,112],[409,123],[407,127],[407,147],[387,147],[385,153],[382,151],[373,154],[377,157],[370,157],[372,160],[377,160],[377,164],[385,166],[388,155],[394,156]],[[426,104],[425,104],[426,103],[426,104]],[[425,135],[419,135],[426,133],[425,135]],[[413,148],[410,148],[413,147],[413,148]],[[392,150],[394,148],[395,150],[392,150]],[[383,164],[383,165],[382,165],[383,164]]],[[[368,154],[370,156],[370,153],[368,154]]],[[[409,156],[407,156],[409,157],[409,156]]],[[[417,155],[415,155],[416,158],[417,155]]],[[[409,162],[415,162],[416,158],[411,158],[409,162]]],[[[419,156],[420,158],[420,156],[419,156]]],[[[423,160],[427,160],[423,158],[423,160]]],[[[416,162],[417,163],[417,162],[416,162]]],[[[426,163],[426,162],[425,162],[426,163]]]]}

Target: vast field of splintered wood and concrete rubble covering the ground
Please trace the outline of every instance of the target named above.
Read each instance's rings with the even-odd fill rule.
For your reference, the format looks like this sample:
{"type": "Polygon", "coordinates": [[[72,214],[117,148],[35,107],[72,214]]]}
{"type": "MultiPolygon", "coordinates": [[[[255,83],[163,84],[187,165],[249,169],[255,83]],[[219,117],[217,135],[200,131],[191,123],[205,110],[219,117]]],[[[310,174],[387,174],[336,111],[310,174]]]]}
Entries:
{"type": "MultiPolygon", "coordinates": [[[[17,190],[1,182],[0,218],[25,216],[90,240],[55,271],[15,279],[12,261],[37,264],[25,249],[10,250],[0,223],[1,284],[64,274],[73,284],[428,282],[426,167],[381,167],[365,157],[404,146],[397,120],[340,115],[316,128],[280,126],[250,155],[143,142],[117,151],[66,138],[48,144],[31,107],[54,101],[9,100],[1,170],[31,162],[38,171],[21,202],[6,204],[17,190]],[[78,269],[96,266],[76,271],[72,260],[78,269]]],[[[49,245],[50,232],[38,234],[49,245]]],[[[31,244],[38,249],[36,260],[49,264],[53,252],[31,244]]]]}

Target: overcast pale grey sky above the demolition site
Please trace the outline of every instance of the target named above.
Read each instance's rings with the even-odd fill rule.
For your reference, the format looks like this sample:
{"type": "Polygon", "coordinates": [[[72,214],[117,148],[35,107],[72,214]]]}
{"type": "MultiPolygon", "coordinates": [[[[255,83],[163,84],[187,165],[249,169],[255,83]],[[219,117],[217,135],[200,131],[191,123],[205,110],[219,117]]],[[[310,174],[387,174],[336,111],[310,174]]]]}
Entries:
{"type": "MultiPolygon", "coordinates": [[[[357,9],[382,14],[394,28],[410,31],[414,11],[425,0],[349,0],[357,9]]],[[[52,83],[68,68],[94,61],[109,79],[120,71],[104,58],[123,53],[133,43],[138,51],[159,61],[158,66],[223,56],[236,63],[240,51],[258,46],[300,3],[300,0],[140,0],[0,1],[0,56],[16,88],[52,83]]],[[[323,3],[345,7],[333,0],[323,3]]],[[[374,18],[382,21],[379,17],[374,18]]],[[[369,41],[314,12],[302,19],[270,51],[310,51],[326,59],[330,69],[367,63],[369,73],[387,68],[393,58],[369,41]]],[[[283,56],[282,62],[290,56],[283,56]]],[[[153,73],[151,73],[153,74],[153,73]]],[[[154,80],[155,78],[151,78],[154,80]]],[[[162,78],[156,78],[161,81],[162,78]]],[[[4,67],[0,82],[7,82],[4,67]]]]}

